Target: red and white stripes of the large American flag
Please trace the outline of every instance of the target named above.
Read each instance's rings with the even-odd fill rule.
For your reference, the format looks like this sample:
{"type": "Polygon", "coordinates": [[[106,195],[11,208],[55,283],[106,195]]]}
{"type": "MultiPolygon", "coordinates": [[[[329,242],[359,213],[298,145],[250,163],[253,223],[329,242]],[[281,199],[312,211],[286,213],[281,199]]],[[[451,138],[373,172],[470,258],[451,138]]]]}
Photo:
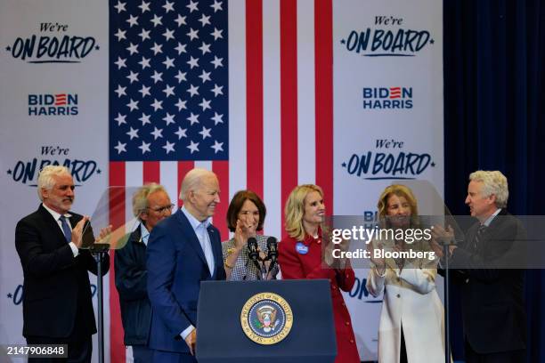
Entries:
{"type": "MultiPolygon", "coordinates": [[[[214,224],[223,239],[229,238],[227,206],[238,190],[254,190],[264,199],[264,233],[278,238],[284,235],[284,203],[297,184],[320,185],[332,213],[332,16],[332,0],[229,0],[230,160],[111,162],[110,186],[156,181],[181,206],[185,173],[212,170],[222,190],[214,224]]],[[[130,197],[114,227],[132,217],[130,197]]],[[[110,274],[111,362],[127,359],[119,317],[110,274]]]]}

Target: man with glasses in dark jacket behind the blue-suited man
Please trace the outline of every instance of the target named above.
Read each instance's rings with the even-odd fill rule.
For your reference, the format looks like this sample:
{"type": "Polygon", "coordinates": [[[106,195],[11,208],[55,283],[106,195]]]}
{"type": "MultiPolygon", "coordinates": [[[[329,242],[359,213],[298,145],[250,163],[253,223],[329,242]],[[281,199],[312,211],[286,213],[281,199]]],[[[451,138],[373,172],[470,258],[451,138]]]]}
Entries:
{"type": "Polygon", "coordinates": [[[133,347],[134,363],[148,363],[151,305],[148,298],[146,246],[150,231],[172,213],[167,190],[154,182],[145,184],[133,196],[133,214],[140,223],[128,236],[126,245],[115,252],[116,287],[119,293],[125,345],[133,347]]]}

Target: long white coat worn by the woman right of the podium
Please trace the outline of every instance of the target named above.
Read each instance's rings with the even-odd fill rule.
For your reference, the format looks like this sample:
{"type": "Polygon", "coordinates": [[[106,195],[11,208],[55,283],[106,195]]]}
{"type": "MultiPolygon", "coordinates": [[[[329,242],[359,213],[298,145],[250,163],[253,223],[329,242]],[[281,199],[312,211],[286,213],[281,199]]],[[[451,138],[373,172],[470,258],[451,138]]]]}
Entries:
{"type": "Polygon", "coordinates": [[[367,290],[375,297],[384,292],[378,362],[399,362],[402,326],[409,363],[444,362],[444,311],[435,290],[436,274],[435,268],[421,268],[411,262],[400,271],[392,259],[386,259],[382,276],[371,267],[367,290]]]}

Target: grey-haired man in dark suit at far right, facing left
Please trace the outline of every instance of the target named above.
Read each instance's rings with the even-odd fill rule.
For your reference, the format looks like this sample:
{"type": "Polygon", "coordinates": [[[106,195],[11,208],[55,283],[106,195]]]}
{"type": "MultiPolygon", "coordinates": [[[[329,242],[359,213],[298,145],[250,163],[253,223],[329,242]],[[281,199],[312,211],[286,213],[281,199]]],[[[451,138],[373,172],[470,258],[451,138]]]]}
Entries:
{"type": "Polygon", "coordinates": [[[461,284],[468,363],[525,362],[525,270],[509,268],[522,265],[525,229],[505,210],[507,202],[502,173],[469,175],[466,204],[478,222],[460,246],[450,246],[452,280],[461,284]]]}

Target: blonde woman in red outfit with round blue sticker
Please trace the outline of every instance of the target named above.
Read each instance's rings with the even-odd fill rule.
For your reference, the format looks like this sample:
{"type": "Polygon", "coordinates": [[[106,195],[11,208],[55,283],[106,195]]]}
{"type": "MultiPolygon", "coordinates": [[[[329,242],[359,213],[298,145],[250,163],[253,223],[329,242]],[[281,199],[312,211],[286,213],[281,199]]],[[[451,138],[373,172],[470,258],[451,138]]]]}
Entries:
{"type": "Polygon", "coordinates": [[[354,270],[321,268],[321,223],[325,217],[323,191],[312,184],[297,186],[286,203],[286,231],[289,237],[279,244],[278,262],[282,278],[328,278],[337,335],[337,363],[359,363],[350,314],[340,290],[354,286],[354,270]]]}

